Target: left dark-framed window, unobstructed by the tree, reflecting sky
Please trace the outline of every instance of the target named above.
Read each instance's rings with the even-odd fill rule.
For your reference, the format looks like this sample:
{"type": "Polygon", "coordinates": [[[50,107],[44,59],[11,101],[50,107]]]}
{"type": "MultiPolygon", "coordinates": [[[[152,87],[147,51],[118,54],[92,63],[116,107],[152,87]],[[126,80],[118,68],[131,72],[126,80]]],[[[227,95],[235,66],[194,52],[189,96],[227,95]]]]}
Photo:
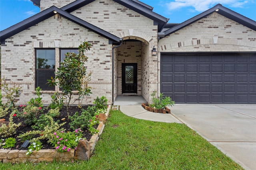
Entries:
{"type": "Polygon", "coordinates": [[[55,90],[54,86],[47,83],[54,77],[55,71],[55,49],[36,49],[36,87],[42,90],[55,90]]]}

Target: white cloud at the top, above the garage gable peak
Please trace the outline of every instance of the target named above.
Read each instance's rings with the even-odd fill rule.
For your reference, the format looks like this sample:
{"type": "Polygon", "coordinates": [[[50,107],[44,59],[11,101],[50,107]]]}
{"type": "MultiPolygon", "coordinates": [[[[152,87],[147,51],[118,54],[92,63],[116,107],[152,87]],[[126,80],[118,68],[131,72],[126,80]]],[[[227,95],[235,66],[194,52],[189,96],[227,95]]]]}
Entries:
{"type": "Polygon", "coordinates": [[[166,3],[168,10],[176,10],[183,7],[194,7],[198,12],[204,12],[216,4],[228,5],[232,7],[243,8],[250,0],[175,0],[175,2],[166,3]]]}

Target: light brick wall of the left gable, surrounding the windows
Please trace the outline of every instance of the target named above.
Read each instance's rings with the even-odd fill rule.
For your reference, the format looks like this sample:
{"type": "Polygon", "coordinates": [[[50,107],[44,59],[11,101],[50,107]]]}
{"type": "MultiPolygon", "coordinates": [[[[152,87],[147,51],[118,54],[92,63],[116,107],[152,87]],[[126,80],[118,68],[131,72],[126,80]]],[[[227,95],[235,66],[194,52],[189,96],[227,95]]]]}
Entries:
{"type": "MultiPolygon", "coordinates": [[[[56,15],[6,39],[6,43],[2,45],[2,78],[22,86],[18,104],[26,104],[30,98],[36,97],[33,93],[35,48],[55,48],[56,40],[60,41],[59,48],[77,48],[83,41],[92,44],[86,55],[89,57],[87,71],[93,71],[89,86],[94,89],[87,100],[92,104],[96,96],[106,96],[111,103],[112,45],[108,44],[108,39],[56,15]]],[[[56,54],[59,48],[56,48],[56,54]]],[[[59,56],[56,55],[56,62],[58,60],[59,56]]],[[[44,104],[50,103],[52,94],[49,91],[43,92],[44,104]]]]}

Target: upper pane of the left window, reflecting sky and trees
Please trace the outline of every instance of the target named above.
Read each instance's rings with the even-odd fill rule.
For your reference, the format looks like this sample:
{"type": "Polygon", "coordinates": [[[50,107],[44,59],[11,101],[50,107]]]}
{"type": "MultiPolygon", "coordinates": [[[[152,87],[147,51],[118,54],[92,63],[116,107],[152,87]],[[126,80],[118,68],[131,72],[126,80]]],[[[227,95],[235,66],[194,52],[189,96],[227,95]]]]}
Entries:
{"type": "Polygon", "coordinates": [[[55,50],[36,50],[36,68],[55,68],[55,50]]]}

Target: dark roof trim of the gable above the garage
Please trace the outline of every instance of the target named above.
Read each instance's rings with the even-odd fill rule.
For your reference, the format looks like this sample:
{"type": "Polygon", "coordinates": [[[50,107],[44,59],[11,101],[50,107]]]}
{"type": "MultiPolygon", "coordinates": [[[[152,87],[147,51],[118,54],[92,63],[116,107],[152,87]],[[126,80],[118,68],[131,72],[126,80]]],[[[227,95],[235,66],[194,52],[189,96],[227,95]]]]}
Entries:
{"type": "Polygon", "coordinates": [[[176,32],[176,31],[178,31],[178,30],[180,30],[198,20],[201,20],[202,18],[205,18],[206,16],[209,16],[210,14],[212,14],[214,12],[217,12],[218,14],[220,14],[226,18],[229,18],[230,20],[236,21],[236,22],[256,31],[256,21],[251,20],[250,18],[247,18],[245,16],[242,16],[241,14],[238,14],[238,13],[222,6],[221,4],[217,4],[216,6],[210,8],[209,10],[202,12],[201,14],[199,14],[193,18],[190,18],[189,20],[186,20],[186,21],[164,31],[164,37],[176,32]]]}

